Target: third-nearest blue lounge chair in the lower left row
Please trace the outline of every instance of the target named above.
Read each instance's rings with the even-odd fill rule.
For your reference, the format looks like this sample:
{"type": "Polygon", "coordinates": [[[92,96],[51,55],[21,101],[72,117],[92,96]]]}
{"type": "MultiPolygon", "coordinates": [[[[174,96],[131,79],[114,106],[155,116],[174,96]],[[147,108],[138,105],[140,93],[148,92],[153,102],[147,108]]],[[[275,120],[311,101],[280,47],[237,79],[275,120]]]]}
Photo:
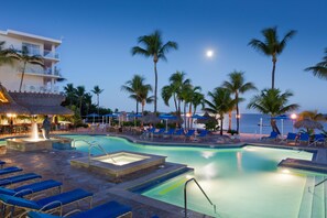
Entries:
{"type": "Polygon", "coordinates": [[[37,183],[32,183],[29,185],[23,185],[15,187],[13,189],[11,188],[6,188],[6,187],[0,187],[0,194],[4,195],[12,195],[17,197],[23,197],[25,195],[34,194],[37,192],[46,190],[46,189],[52,189],[52,188],[58,188],[59,193],[62,192],[62,183],[53,179],[48,181],[41,181],[37,183]]]}

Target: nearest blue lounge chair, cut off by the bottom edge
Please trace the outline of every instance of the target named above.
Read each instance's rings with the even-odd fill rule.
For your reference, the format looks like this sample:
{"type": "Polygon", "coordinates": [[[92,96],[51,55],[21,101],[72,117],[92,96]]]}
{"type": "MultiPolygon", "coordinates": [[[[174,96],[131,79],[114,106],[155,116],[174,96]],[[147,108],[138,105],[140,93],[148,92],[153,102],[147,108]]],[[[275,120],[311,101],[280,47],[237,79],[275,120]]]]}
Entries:
{"type": "MultiPolygon", "coordinates": [[[[72,215],[72,212],[68,212],[72,215]]],[[[68,216],[68,215],[65,215],[68,216]]],[[[29,218],[58,218],[57,216],[46,215],[35,211],[28,214],[29,218]]],[[[89,210],[81,211],[77,215],[69,216],[70,218],[112,218],[112,217],[132,217],[132,209],[129,206],[119,204],[115,200],[94,207],[89,210]]]]}

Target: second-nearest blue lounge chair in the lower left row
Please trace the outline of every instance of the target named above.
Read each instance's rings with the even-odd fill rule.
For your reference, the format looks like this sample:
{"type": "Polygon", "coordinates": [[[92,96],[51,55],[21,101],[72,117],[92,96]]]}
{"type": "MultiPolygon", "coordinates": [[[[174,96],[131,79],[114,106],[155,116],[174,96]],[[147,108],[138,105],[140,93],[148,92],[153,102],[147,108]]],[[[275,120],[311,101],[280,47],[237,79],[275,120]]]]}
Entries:
{"type": "Polygon", "coordinates": [[[39,200],[29,200],[21,197],[15,197],[11,195],[0,194],[0,201],[3,204],[4,208],[2,211],[2,217],[6,215],[6,207],[10,206],[11,209],[7,217],[12,217],[14,215],[15,208],[21,208],[24,211],[20,217],[24,217],[29,211],[46,211],[54,212],[59,211],[59,216],[63,215],[63,206],[73,203],[78,203],[80,200],[90,199],[89,207],[91,207],[92,193],[86,192],[81,188],[69,190],[66,193],[61,193],[58,195],[53,195],[39,200]]]}

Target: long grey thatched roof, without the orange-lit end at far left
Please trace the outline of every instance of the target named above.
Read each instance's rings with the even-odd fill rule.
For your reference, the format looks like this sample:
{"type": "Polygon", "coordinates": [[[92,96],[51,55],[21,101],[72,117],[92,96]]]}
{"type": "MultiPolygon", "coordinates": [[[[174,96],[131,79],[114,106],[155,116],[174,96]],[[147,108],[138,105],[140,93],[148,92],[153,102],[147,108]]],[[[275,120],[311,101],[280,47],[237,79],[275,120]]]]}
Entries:
{"type": "Polygon", "coordinates": [[[61,106],[65,96],[59,94],[9,92],[9,95],[31,115],[74,115],[72,110],[61,106]]]}

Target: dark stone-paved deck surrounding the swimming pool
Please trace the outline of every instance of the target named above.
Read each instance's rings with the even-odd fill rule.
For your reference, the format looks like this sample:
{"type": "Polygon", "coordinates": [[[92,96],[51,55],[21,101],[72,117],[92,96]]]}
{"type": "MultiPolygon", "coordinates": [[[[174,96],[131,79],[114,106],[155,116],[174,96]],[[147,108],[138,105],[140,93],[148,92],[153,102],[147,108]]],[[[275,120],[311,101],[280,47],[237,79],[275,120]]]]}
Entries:
{"type": "MultiPolygon", "coordinates": [[[[66,132],[67,133],[67,132],[66,132]]],[[[69,134],[81,134],[79,132],[68,132],[69,134]]],[[[61,133],[62,134],[62,133],[61,133]]],[[[108,135],[103,132],[84,132],[83,134],[99,134],[108,135]]],[[[165,144],[165,145],[179,145],[179,146],[205,146],[205,148],[241,148],[246,144],[269,146],[269,148],[281,148],[281,149],[296,149],[313,151],[316,154],[314,160],[310,162],[312,165],[318,165],[319,167],[326,167],[327,170],[327,149],[305,145],[287,145],[272,142],[262,142],[257,135],[253,134],[241,134],[240,140],[228,144],[221,144],[217,141],[205,141],[205,142],[184,142],[184,140],[170,140],[170,139],[140,139],[139,135],[129,134],[116,134],[109,133],[113,137],[123,137],[130,141],[143,143],[143,144],[165,144]]],[[[9,137],[4,135],[3,138],[9,137]]],[[[11,135],[12,137],[12,135],[11,135]]],[[[1,139],[1,138],[0,138],[1,139]]],[[[6,161],[9,166],[17,165],[24,168],[24,173],[37,173],[43,176],[43,179],[56,179],[64,184],[64,190],[73,188],[84,188],[95,194],[94,205],[99,205],[108,200],[118,200],[122,204],[132,207],[133,217],[146,218],[157,215],[161,218],[167,217],[184,217],[183,208],[165,204],[145,196],[141,196],[135,193],[128,190],[129,187],[133,187],[138,184],[142,184],[146,181],[152,179],[162,174],[166,174],[168,171],[174,171],[179,167],[178,164],[167,163],[163,168],[156,168],[152,173],[141,172],[139,177],[115,184],[109,182],[106,177],[83,171],[80,168],[72,167],[69,161],[76,157],[86,156],[86,153],[81,153],[75,150],[70,151],[58,151],[58,150],[43,150],[43,151],[31,151],[20,152],[14,150],[0,150],[0,160],[6,161]]],[[[303,164],[303,163],[301,163],[303,164]]],[[[81,205],[86,209],[87,205],[81,205]]],[[[219,208],[219,206],[218,206],[219,208]]],[[[66,211],[72,208],[66,208],[66,211]]],[[[218,209],[219,212],[219,209],[218,209]]],[[[189,217],[209,217],[198,212],[192,211],[189,217]]]]}

